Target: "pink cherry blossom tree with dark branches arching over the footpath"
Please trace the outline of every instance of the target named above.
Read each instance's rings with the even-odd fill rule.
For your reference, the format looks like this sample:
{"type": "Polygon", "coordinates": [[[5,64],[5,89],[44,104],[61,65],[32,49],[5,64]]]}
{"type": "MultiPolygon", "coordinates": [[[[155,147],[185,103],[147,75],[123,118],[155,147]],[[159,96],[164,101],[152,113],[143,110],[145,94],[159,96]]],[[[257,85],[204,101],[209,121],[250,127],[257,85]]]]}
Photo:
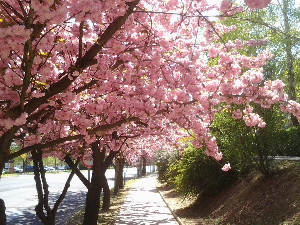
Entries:
{"type": "MultiPolygon", "coordinates": [[[[269,2],[237,6],[224,0],[223,14],[214,16],[224,19],[269,2]]],[[[215,43],[235,27],[213,21],[208,13],[214,8],[204,0],[0,0],[0,167],[41,149],[71,164],[62,149],[74,158],[92,149],[91,211],[84,224],[95,224],[89,215],[98,217],[91,193],[98,195],[102,185],[93,182],[103,179],[101,151],[109,146],[118,152],[128,127],[139,126],[142,136],[156,127],[184,129],[195,147],[206,146],[206,154],[220,160],[209,132],[217,104],[267,108],[280,102],[299,119],[300,105],[288,101],[282,81],[259,85],[271,52],[236,51],[265,40],[215,43]],[[207,57],[218,64],[211,66],[207,57]],[[12,142],[24,143],[22,149],[10,153],[12,142]]],[[[247,107],[240,113],[234,116],[247,125],[264,126],[247,107]]]]}

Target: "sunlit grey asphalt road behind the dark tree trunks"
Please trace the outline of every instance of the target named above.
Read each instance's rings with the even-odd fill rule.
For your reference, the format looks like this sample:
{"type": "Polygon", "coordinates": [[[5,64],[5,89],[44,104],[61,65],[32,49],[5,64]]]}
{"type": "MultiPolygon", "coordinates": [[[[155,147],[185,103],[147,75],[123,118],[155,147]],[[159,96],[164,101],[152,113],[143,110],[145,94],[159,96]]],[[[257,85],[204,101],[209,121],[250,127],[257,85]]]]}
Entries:
{"type": "MultiPolygon", "coordinates": [[[[148,171],[147,167],[146,171],[148,171]]],[[[87,171],[83,171],[82,173],[86,178],[88,177],[87,171]]],[[[107,170],[105,175],[110,188],[112,188],[114,186],[114,169],[107,170]]],[[[46,174],[50,191],[49,205],[51,208],[61,194],[68,176],[69,173],[46,174]]],[[[126,172],[126,180],[133,178],[134,168],[128,168],[126,172]]],[[[55,224],[66,224],[66,221],[68,221],[73,214],[84,207],[86,192],[86,187],[82,184],[79,178],[74,175],[67,195],[58,208],[55,224]]],[[[0,198],[5,202],[7,225],[42,224],[35,214],[35,206],[38,203],[38,199],[34,175],[24,174],[16,177],[1,178],[0,198]]]]}

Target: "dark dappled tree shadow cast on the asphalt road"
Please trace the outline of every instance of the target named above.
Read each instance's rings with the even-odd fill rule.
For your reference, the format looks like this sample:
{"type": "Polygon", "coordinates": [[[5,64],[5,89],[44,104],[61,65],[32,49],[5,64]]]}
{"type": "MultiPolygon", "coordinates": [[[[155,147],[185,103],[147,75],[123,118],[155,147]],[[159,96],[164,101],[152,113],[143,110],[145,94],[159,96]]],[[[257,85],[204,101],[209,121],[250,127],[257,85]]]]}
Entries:
{"type": "MultiPolygon", "coordinates": [[[[51,208],[60,194],[61,192],[49,194],[49,205],[51,208]]],[[[68,191],[65,199],[58,207],[55,217],[55,225],[66,224],[71,216],[85,206],[85,197],[86,191],[68,191]]],[[[35,201],[37,198],[38,196],[35,195],[34,198],[27,198],[27,200],[35,201]]],[[[35,205],[31,206],[30,208],[22,208],[22,205],[20,205],[20,207],[18,207],[18,212],[20,215],[8,221],[7,225],[43,225],[41,220],[36,215],[35,205]]]]}

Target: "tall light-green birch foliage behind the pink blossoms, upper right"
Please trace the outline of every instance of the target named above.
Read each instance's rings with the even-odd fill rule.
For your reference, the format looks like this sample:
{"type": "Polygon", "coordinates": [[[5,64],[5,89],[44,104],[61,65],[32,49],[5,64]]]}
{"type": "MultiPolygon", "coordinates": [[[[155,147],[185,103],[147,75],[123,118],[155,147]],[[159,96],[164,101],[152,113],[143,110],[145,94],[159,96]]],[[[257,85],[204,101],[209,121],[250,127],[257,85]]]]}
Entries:
{"type": "MultiPolygon", "coordinates": [[[[220,23],[236,26],[234,32],[222,36],[225,42],[240,38],[240,34],[243,34],[244,40],[267,38],[268,44],[245,46],[238,49],[238,52],[244,55],[256,55],[263,49],[271,50],[274,57],[264,66],[265,80],[283,80],[290,99],[299,99],[300,7],[295,0],[277,0],[263,10],[239,13],[220,23]]],[[[298,125],[298,120],[292,115],[289,124],[298,125]]]]}

